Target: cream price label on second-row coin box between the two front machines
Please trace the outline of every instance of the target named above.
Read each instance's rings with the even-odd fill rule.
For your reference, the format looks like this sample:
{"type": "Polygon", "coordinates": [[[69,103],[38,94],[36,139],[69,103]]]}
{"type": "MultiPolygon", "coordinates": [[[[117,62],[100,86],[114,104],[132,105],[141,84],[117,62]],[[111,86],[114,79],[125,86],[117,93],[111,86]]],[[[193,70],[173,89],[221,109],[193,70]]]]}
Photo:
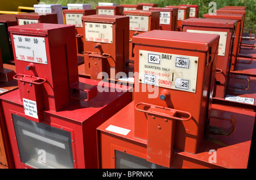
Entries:
{"type": "Polygon", "coordinates": [[[98,43],[113,43],[112,24],[85,23],[85,40],[98,43]]]}

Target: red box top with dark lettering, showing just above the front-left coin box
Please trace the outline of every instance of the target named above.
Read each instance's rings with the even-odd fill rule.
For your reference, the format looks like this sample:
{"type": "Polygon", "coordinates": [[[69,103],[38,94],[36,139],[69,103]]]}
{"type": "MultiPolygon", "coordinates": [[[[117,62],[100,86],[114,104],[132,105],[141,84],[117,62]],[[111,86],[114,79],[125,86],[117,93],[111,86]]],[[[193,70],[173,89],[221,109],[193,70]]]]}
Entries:
{"type": "Polygon", "coordinates": [[[25,14],[16,14],[18,25],[33,23],[58,23],[56,13],[39,14],[37,12],[28,12],[25,14]]]}

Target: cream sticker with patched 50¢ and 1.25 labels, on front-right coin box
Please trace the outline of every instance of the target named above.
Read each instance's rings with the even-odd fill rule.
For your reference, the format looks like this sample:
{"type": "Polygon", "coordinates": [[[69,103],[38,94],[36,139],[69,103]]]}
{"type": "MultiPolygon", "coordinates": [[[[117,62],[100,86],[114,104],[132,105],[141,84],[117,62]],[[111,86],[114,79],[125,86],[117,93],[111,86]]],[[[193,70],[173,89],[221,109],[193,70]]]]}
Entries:
{"type": "Polygon", "coordinates": [[[139,82],[196,93],[199,57],[139,50],[139,82]]]}

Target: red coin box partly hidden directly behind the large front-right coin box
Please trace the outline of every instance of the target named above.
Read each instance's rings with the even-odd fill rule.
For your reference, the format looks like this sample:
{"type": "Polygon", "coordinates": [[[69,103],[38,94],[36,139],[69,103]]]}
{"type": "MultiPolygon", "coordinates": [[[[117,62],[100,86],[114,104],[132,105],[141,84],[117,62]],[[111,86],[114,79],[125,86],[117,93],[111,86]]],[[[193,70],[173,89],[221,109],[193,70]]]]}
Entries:
{"type": "Polygon", "coordinates": [[[189,18],[183,21],[184,32],[207,33],[211,31],[213,34],[220,35],[216,65],[218,71],[215,74],[218,83],[216,82],[213,97],[224,98],[226,96],[236,28],[236,19],[189,18]]]}

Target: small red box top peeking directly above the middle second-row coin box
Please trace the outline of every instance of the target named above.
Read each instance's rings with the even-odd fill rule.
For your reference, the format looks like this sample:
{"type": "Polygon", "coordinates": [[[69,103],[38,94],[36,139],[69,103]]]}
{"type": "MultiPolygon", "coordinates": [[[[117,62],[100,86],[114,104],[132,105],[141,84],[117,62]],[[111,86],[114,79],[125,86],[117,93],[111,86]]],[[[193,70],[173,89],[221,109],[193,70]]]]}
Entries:
{"type": "Polygon", "coordinates": [[[123,15],[123,6],[96,6],[99,15],[123,15]]]}

